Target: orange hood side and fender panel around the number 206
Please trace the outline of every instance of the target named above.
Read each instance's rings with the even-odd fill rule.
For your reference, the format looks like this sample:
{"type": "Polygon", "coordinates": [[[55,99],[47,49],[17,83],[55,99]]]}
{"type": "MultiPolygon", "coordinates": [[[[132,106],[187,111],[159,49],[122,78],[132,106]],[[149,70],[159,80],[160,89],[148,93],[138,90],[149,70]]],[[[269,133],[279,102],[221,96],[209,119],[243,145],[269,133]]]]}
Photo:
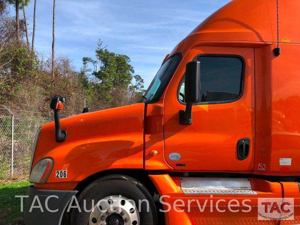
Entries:
{"type": "Polygon", "coordinates": [[[142,169],[144,104],[113,108],[110,115],[122,114],[122,109],[134,111],[134,116],[64,128],[67,139],[63,143],[55,142],[53,130],[41,133],[33,166],[43,158],[53,158],[47,183],[78,182],[109,169],[142,169]],[[56,178],[55,171],[60,170],[67,170],[66,178],[56,178]]]}

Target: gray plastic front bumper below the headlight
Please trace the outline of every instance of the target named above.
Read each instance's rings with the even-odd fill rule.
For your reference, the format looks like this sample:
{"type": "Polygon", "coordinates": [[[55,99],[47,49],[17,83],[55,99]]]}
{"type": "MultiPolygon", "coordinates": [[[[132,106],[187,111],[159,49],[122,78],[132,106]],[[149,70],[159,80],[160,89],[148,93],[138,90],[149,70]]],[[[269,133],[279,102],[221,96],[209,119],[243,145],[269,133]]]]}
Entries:
{"type": "Polygon", "coordinates": [[[24,212],[25,224],[60,225],[64,210],[76,193],[76,190],[40,190],[35,189],[33,186],[29,186],[26,193],[29,197],[26,198],[26,208],[24,212]],[[35,196],[38,197],[35,199],[35,196]],[[58,198],[49,196],[57,196],[58,198]],[[47,210],[45,206],[47,197],[49,197],[47,204],[48,208],[52,211],[55,210],[56,212],[50,212],[47,210]],[[40,200],[44,212],[42,212],[41,208],[32,208],[32,211],[29,212],[33,202],[35,203],[34,206],[39,206],[38,200],[40,200]]]}

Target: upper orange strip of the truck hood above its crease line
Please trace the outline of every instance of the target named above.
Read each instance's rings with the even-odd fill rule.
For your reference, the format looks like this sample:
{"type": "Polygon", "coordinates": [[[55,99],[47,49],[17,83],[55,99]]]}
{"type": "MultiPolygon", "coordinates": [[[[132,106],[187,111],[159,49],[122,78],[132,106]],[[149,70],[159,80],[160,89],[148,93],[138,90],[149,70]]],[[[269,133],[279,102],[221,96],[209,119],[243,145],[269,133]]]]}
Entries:
{"type": "MultiPolygon", "coordinates": [[[[81,113],[75,116],[70,116],[60,119],[61,128],[68,128],[89,123],[103,122],[114,119],[123,119],[128,117],[143,116],[144,103],[132,104],[128,106],[110,108],[89,113],[81,113]]],[[[45,124],[41,133],[55,130],[54,122],[45,124]]]]}

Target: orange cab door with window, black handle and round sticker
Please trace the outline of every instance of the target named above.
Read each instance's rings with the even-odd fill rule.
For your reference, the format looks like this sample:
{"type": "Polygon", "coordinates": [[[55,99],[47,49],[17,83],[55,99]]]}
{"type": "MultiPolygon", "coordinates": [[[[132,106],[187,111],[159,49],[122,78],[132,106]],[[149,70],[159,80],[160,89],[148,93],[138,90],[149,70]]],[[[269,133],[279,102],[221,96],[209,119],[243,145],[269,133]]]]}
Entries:
{"type": "Polygon", "coordinates": [[[254,99],[253,48],[191,49],[165,94],[164,145],[168,164],[189,171],[252,170],[254,99]],[[200,61],[201,101],[192,106],[192,123],[181,125],[185,66],[193,60],[200,61]]]}

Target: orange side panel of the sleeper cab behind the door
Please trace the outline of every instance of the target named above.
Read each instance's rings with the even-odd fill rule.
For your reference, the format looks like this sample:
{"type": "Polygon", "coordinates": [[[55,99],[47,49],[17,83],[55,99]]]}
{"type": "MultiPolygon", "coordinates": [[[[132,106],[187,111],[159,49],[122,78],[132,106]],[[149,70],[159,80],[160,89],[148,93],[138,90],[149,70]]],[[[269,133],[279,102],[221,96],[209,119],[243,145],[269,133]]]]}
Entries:
{"type": "Polygon", "coordinates": [[[255,164],[257,173],[300,172],[299,44],[281,43],[255,49],[255,164]],[[259,167],[264,165],[264,167],[259,167]]]}

